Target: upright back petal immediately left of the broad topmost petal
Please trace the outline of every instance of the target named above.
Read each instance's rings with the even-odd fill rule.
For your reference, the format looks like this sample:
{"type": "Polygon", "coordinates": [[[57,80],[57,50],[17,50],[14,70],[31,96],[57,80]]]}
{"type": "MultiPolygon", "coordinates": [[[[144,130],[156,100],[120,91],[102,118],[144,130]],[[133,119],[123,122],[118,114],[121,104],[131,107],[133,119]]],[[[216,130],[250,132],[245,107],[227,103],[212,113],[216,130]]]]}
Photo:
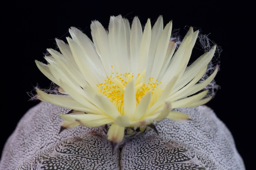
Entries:
{"type": "Polygon", "coordinates": [[[100,56],[106,75],[110,77],[111,65],[114,65],[114,63],[109,48],[108,34],[99,21],[92,21],[91,30],[96,51],[100,56]]]}

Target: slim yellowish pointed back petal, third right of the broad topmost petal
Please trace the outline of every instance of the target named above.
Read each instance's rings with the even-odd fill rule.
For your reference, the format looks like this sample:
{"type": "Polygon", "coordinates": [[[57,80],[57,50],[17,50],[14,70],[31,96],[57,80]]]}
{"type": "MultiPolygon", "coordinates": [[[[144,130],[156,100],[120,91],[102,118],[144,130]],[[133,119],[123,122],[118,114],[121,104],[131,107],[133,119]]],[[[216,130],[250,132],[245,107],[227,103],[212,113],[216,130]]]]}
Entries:
{"type": "Polygon", "coordinates": [[[150,47],[150,42],[151,42],[151,23],[150,23],[150,19],[148,18],[148,21],[143,31],[142,40],[140,43],[140,51],[138,56],[138,63],[140,64],[138,65],[138,73],[141,73],[143,70],[147,68],[148,51],[150,47]]]}

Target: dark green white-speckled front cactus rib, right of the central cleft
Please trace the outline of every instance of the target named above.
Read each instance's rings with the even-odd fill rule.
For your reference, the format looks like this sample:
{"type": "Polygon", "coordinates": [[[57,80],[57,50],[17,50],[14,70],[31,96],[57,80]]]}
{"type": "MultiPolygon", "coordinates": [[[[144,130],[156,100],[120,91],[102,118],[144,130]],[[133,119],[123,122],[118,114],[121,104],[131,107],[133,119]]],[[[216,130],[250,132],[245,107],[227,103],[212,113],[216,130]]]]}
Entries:
{"type": "Polygon", "coordinates": [[[128,142],[121,152],[121,169],[225,170],[207,154],[170,137],[140,136],[128,142]]]}

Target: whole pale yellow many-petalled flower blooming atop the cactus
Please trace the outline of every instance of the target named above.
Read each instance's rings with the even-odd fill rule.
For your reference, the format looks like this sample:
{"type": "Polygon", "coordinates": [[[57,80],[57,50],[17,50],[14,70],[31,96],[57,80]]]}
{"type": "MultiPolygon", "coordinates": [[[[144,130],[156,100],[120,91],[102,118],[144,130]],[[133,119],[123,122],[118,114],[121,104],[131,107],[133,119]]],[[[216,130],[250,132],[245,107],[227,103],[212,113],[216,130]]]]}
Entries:
{"type": "Polygon", "coordinates": [[[92,21],[91,31],[93,42],[71,27],[68,45],[56,39],[61,53],[47,49],[51,56],[44,58],[49,64],[36,61],[44,75],[61,87],[60,92],[68,94],[37,90],[38,99],[77,112],[60,115],[65,119],[62,126],[109,124],[108,139],[119,143],[127,127],[142,127],[164,118],[188,120],[188,115],[172,109],[211,100],[203,99],[207,90],[195,93],[217,73],[218,69],[198,83],[216,47],[186,68],[198,35],[193,28],[176,52],[176,43],[170,41],[172,22],[163,29],[162,16],[152,29],[148,19],[144,31],[138,17],[130,28],[129,21],[120,15],[110,18],[108,31],[100,22],[92,21]]]}

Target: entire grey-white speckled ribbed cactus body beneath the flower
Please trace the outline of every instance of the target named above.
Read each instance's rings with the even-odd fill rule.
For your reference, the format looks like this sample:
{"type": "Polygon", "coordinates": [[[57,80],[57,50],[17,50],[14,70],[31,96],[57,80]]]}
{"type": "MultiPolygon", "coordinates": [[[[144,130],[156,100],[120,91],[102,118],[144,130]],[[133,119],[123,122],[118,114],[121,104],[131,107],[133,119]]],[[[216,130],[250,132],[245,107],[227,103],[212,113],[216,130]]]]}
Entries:
{"type": "Polygon", "coordinates": [[[166,169],[167,167],[172,169],[176,166],[179,167],[178,169],[184,169],[182,167],[189,167],[185,165],[190,165],[191,162],[193,163],[191,165],[195,166],[191,166],[190,169],[196,165],[202,166],[202,169],[245,169],[231,133],[225,124],[216,117],[212,109],[206,106],[177,109],[177,111],[189,114],[191,119],[196,122],[180,123],[164,119],[156,126],[162,136],[158,137],[154,132],[150,132],[152,134],[142,135],[132,140],[126,139],[127,143],[121,152],[117,149],[113,157],[111,156],[111,144],[106,137],[94,133],[101,131],[100,128],[78,126],[72,130],[64,130],[58,135],[62,121],[58,114],[65,114],[68,111],[66,108],[46,102],[41,102],[31,108],[20,120],[6,142],[0,161],[0,170],[13,170],[19,165],[17,169],[47,169],[46,165],[49,166],[49,169],[51,166],[52,169],[57,168],[51,164],[51,161],[58,162],[63,166],[67,165],[69,169],[79,169],[80,167],[80,169],[88,167],[85,169],[99,170],[138,169],[138,164],[141,166],[139,169],[143,169],[142,165],[147,166],[148,169],[166,169]],[[147,156],[144,153],[142,154],[144,157],[138,156],[141,150],[145,150],[145,147],[149,145],[155,148],[151,151],[154,154],[147,156]],[[178,149],[177,153],[180,153],[181,156],[183,154],[184,160],[180,159],[181,162],[176,163],[175,161],[178,159],[169,154],[169,151],[173,150],[170,148],[175,150],[179,147],[189,148],[189,152],[180,153],[178,152],[180,149],[178,149]],[[59,152],[60,150],[61,152],[59,152]],[[160,160],[159,155],[162,154],[164,156],[160,160]],[[191,154],[196,155],[198,159],[191,159],[193,157],[191,154]],[[89,158],[91,156],[97,157],[97,161],[89,158]],[[57,157],[58,159],[56,159],[57,157]],[[151,161],[147,164],[147,161],[144,160],[147,157],[155,162],[151,161]],[[188,158],[189,160],[187,160],[188,158]],[[157,162],[158,159],[160,162],[157,162]],[[138,163],[139,160],[140,163],[138,163]],[[175,163],[168,164],[168,161],[171,160],[175,163]],[[159,166],[162,164],[161,161],[164,163],[167,161],[166,165],[159,166]],[[44,165],[41,166],[41,164],[44,165]],[[33,167],[31,167],[32,165],[33,167]]]}

